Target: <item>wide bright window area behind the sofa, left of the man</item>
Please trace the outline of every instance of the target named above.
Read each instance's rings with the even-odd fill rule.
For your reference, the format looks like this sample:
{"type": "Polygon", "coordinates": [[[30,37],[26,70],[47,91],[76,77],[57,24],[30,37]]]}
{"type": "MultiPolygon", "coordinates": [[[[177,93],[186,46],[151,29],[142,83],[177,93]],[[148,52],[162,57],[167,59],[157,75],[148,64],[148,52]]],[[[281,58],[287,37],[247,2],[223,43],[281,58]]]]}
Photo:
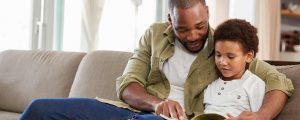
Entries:
{"type": "Polygon", "coordinates": [[[6,49],[133,51],[146,28],[156,20],[165,20],[157,14],[163,9],[159,6],[160,3],[164,3],[161,0],[93,0],[84,6],[86,2],[2,1],[0,51],[6,49]],[[96,12],[98,10],[101,12],[96,12]],[[86,22],[84,20],[87,14],[91,15],[86,22]],[[100,19],[94,19],[95,16],[100,19]],[[88,30],[85,25],[88,25],[88,30]],[[90,34],[93,34],[92,38],[90,34]]]}

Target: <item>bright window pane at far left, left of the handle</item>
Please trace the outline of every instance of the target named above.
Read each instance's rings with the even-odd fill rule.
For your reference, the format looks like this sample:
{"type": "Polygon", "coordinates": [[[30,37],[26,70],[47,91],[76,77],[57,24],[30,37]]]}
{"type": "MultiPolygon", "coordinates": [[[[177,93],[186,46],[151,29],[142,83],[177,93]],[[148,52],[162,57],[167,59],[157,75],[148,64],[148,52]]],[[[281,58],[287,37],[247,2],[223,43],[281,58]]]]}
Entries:
{"type": "Polygon", "coordinates": [[[30,49],[31,0],[2,0],[0,3],[0,51],[30,49]]]}

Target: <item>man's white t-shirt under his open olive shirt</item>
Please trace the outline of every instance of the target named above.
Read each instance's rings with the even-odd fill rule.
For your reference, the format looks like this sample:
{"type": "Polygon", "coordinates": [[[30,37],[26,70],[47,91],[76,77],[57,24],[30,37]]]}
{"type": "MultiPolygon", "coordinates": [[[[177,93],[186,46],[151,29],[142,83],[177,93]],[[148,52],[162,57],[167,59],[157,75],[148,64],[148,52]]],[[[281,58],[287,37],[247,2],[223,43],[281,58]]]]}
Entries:
{"type": "MultiPolygon", "coordinates": [[[[204,48],[207,46],[207,40],[204,48]]],[[[175,51],[171,58],[163,65],[163,72],[170,82],[170,94],[168,99],[179,102],[184,108],[184,83],[189,73],[191,64],[198,56],[198,53],[190,53],[186,48],[175,40],[175,51]]]]}

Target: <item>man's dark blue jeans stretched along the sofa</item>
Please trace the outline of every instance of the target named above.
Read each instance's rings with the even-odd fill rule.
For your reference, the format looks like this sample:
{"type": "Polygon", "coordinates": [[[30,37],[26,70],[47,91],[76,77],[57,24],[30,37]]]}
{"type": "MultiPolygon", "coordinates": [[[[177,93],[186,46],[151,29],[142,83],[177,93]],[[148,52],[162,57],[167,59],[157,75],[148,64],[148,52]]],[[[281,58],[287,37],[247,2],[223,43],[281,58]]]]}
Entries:
{"type": "Polygon", "coordinates": [[[90,98],[36,99],[20,120],[163,120],[149,112],[133,112],[90,98]]]}

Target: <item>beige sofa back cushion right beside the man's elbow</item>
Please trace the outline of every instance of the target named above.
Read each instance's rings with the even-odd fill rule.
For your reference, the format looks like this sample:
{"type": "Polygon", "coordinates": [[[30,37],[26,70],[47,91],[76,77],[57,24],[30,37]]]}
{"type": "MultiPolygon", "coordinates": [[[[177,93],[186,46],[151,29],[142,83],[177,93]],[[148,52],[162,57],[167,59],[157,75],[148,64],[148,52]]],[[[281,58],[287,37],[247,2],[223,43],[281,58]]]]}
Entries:
{"type": "Polygon", "coordinates": [[[129,52],[94,51],[79,65],[69,97],[118,100],[116,78],[121,76],[132,56],[129,52]]]}

